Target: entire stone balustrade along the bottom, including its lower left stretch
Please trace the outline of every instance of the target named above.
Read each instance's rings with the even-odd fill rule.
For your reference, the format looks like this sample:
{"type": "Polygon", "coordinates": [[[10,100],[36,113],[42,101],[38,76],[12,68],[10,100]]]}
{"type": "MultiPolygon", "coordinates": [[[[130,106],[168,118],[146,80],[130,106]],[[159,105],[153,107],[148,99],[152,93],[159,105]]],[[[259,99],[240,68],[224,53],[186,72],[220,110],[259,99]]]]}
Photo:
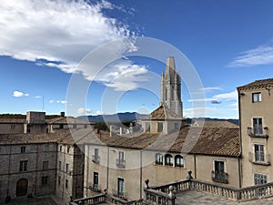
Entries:
{"type": "Polygon", "coordinates": [[[95,197],[73,200],[70,205],[93,205],[99,203],[111,203],[117,205],[175,205],[176,194],[187,190],[197,190],[224,197],[229,200],[244,201],[257,200],[273,196],[273,182],[251,186],[248,188],[237,189],[219,185],[217,183],[205,182],[197,179],[192,179],[189,174],[188,179],[167,183],[161,186],[149,187],[149,180],[146,181],[144,188],[145,198],[142,200],[123,200],[115,196],[104,194],[96,195],[95,197]]]}

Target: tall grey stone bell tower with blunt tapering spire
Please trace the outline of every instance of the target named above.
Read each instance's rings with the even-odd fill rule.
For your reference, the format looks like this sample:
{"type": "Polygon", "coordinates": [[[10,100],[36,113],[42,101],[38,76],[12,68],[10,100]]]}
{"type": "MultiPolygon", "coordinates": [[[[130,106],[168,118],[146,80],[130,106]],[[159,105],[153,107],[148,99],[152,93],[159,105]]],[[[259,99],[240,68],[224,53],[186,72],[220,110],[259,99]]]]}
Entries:
{"type": "Polygon", "coordinates": [[[175,57],[173,56],[167,57],[165,74],[162,72],[160,105],[169,108],[178,117],[183,117],[181,77],[177,73],[175,57]]]}

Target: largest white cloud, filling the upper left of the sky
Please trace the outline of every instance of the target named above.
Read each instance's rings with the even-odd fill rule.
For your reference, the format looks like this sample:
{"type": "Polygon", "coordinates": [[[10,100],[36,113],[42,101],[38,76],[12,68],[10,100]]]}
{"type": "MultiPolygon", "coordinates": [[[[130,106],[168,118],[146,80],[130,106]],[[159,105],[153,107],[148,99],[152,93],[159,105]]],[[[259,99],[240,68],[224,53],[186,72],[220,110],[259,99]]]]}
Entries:
{"type": "MultiPolygon", "coordinates": [[[[107,71],[108,78],[96,77],[100,67],[94,64],[87,68],[77,67],[81,59],[97,46],[135,35],[128,26],[106,17],[103,9],[126,11],[107,1],[96,4],[84,0],[5,1],[0,4],[0,56],[33,61],[39,66],[56,67],[66,73],[81,72],[86,79],[101,81],[116,90],[134,89],[137,77],[147,72],[144,66],[123,60],[126,65],[112,67],[107,71]],[[122,84],[123,80],[126,82],[122,84]]],[[[112,53],[122,56],[124,52],[136,49],[134,42],[125,40],[112,53]]]]}

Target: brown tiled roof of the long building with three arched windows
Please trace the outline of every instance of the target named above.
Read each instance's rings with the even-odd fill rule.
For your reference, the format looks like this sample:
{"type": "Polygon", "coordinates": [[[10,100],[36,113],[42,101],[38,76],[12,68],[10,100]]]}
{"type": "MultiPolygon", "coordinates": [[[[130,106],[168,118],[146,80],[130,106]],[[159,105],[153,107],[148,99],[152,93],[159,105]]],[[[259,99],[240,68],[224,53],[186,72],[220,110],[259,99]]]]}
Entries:
{"type": "Polygon", "coordinates": [[[77,141],[125,149],[182,151],[229,157],[240,155],[238,128],[185,127],[179,133],[169,135],[142,133],[134,138],[122,136],[98,138],[91,132],[77,141]]]}

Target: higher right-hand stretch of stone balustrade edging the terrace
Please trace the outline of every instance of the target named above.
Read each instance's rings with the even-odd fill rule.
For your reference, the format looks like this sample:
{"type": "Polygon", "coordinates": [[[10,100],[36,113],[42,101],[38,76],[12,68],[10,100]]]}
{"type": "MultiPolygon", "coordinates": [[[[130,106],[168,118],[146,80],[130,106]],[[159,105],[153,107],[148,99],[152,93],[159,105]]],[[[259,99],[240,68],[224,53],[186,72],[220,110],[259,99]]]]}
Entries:
{"type": "Polygon", "coordinates": [[[175,201],[172,201],[171,203],[166,201],[175,200],[175,194],[187,190],[197,190],[201,192],[206,192],[208,194],[213,194],[218,197],[224,197],[229,200],[237,201],[257,200],[260,198],[268,198],[273,196],[273,183],[237,189],[215,183],[192,179],[190,174],[189,179],[176,181],[173,183],[167,183],[161,186],[149,187],[148,182],[149,181],[146,180],[147,188],[145,188],[144,190],[146,194],[145,201],[147,201],[148,204],[175,204],[175,201]],[[169,198],[170,193],[173,197],[172,199],[169,198]]]}

